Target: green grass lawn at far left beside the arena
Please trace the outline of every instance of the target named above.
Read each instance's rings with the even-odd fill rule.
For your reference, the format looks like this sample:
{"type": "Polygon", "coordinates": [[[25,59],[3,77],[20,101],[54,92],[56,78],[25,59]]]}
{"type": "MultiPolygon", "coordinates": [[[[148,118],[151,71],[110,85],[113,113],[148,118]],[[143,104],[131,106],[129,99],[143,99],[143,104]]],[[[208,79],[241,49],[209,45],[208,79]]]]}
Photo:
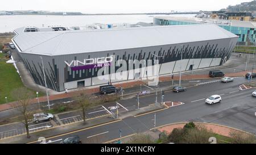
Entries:
{"type": "MultiPolygon", "coordinates": [[[[0,53],[0,104],[6,103],[5,97],[7,97],[7,102],[14,101],[11,97],[11,91],[18,87],[24,87],[14,65],[7,64],[7,60],[5,55],[0,53]]],[[[36,97],[36,92],[33,91],[33,93],[36,97]]],[[[39,93],[39,96],[42,95],[43,93],[39,93]]]]}

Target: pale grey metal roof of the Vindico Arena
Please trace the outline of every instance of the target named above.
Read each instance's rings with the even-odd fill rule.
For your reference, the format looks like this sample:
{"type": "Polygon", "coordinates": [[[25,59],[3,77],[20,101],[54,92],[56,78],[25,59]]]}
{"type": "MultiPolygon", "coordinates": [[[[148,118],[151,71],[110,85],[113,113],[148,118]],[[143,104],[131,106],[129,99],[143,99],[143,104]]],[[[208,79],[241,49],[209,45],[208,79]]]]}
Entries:
{"type": "Polygon", "coordinates": [[[214,24],[90,31],[15,32],[17,35],[13,41],[21,52],[40,55],[112,51],[237,37],[214,24]]]}

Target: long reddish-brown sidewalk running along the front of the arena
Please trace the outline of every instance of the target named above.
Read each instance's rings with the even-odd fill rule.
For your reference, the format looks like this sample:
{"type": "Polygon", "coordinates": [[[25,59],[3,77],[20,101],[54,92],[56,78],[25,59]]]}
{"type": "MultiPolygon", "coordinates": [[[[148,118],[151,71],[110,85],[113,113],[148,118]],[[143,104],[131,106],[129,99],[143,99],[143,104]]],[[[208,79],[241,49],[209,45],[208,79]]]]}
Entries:
{"type": "MultiPolygon", "coordinates": [[[[237,72],[237,73],[226,73],[225,76],[227,77],[242,77],[245,76],[246,73],[248,73],[249,71],[243,71],[243,72],[237,72]]],[[[254,70],[254,72],[256,72],[256,69],[254,70]]],[[[184,74],[183,76],[181,76],[181,80],[182,81],[189,81],[192,79],[208,79],[209,76],[208,74],[184,74]]],[[[171,76],[163,76],[163,77],[159,77],[159,81],[160,82],[166,82],[166,81],[171,81],[171,76]]],[[[174,81],[178,81],[179,80],[179,76],[174,76],[174,81]]],[[[126,83],[119,83],[117,85],[115,85],[113,83],[113,85],[115,87],[120,87],[122,86],[124,89],[127,89],[129,87],[134,87],[134,86],[139,86],[139,85],[143,85],[146,82],[143,81],[133,81],[133,82],[126,82],[126,83]]],[[[83,90],[81,90],[83,91],[83,90]]],[[[96,88],[92,88],[92,89],[86,89],[86,91],[89,91],[90,93],[98,93],[98,87],[96,88]]],[[[71,91],[68,94],[56,94],[56,95],[49,95],[49,100],[56,100],[56,99],[63,99],[63,98],[72,98],[77,94],[77,91],[71,91]]],[[[47,97],[39,97],[40,102],[47,102],[47,97]]],[[[31,104],[33,103],[37,103],[38,100],[36,98],[32,99],[31,104]]],[[[11,106],[12,104],[15,104],[16,102],[10,102],[10,103],[6,103],[6,104],[0,104],[0,111],[5,111],[5,110],[9,110],[11,108],[13,108],[13,106],[11,106]]]]}

